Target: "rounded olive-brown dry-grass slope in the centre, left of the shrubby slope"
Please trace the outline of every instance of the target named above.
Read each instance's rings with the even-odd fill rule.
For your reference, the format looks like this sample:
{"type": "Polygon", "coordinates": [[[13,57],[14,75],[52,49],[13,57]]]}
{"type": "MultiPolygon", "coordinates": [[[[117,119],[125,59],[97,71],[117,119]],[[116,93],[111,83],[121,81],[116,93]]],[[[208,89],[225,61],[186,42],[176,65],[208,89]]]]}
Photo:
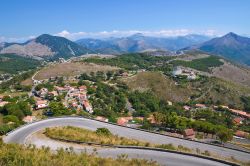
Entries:
{"type": "Polygon", "coordinates": [[[123,81],[132,90],[152,90],[153,93],[166,101],[185,102],[192,93],[189,87],[178,87],[173,80],[159,72],[140,72],[134,77],[123,79],[123,81]]]}

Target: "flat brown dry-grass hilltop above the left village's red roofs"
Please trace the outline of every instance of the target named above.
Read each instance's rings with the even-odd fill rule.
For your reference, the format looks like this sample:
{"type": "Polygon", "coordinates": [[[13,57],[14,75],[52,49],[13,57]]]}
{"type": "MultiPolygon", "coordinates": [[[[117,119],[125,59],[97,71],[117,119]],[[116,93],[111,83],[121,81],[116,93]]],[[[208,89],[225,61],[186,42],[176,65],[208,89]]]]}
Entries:
{"type": "Polygon", "coordinates": [[[35,79],[43,80],[49,79],[50,77],[56,76],[76,76],[82,73],[90,73],[90,72],[97,72],[97,71],[111,71],[117,70],[118,68],[107,66],[107,65],[96,65],[91,63],[84,63],[84,62],[71,62],[71,63],[60,63],[55,65],[50,65],[48,67],[43,68],[40,70],[35,79]]]}

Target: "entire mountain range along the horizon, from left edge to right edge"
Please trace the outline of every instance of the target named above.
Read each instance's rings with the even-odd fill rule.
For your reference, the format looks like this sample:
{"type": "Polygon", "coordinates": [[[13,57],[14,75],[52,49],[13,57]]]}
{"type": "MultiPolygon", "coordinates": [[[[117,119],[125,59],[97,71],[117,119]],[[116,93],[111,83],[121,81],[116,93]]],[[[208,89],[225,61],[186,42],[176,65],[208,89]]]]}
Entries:
{"type": "Polygon", "coordinates": [[[151,37],[138,33],[128,37],[85,38],[75,42],[63,37],[43,34],[25,43],[0,43],[0,54],[16,54],[39,60],[70,58],[86,53],[119,55],[149,52],[153,55],[178,55],[176,53],[193,49],[250,65],[250,38],[232,32],[212,39],[197,34],[177,37],[151,37]]]}

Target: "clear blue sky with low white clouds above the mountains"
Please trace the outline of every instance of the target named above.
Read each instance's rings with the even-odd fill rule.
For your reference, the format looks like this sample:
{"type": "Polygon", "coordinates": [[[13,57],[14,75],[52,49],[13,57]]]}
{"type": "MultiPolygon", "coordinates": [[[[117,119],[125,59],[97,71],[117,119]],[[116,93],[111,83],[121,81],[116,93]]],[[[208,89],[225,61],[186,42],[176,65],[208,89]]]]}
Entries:
{"type": "Polygon", "coordinates": [[[0,42],[86,37],[250,35],[250,0],[1,0],[0,42]]]}

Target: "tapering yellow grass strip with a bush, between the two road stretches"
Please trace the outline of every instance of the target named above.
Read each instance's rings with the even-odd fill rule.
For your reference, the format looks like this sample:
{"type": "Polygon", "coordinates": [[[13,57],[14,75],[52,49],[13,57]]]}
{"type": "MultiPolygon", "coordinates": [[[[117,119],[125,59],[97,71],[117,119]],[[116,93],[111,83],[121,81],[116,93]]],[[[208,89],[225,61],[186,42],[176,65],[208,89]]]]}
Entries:
{"type": "Polygon", "coordinates": [[[210,156],[220,160],[227,160],[234,163],[239,163],[240,165],[250,165],[250,163],[245,163],[236,160],[234,157],[223,158],[216,154],[213,154],[209,151],[201,151],[200,149],[191,150],[182,145],[174,146],[173,144],[151,144],[145,141],[139,141],[135,139],[128,139],[124,137],[119,137],[113,135],[109,130],[105,128],[98,129],[97,131],[90,131],[78,127],[66,126],[66,127],[54,127],[47,128],[45,130],[45,135],[51,139],[65,139],[70,141],[83,141],[83,142],[93,142],[100,144],[111,144],[111,145],[129,145],[129,146],[143,146],[143,147],[153,147],[153,148],[162,148],[173,151],[180,151],[192,154],[198,154],[201,156],[210,156]],[[99,130],[99,131],[98,131],[99,130]]]}

